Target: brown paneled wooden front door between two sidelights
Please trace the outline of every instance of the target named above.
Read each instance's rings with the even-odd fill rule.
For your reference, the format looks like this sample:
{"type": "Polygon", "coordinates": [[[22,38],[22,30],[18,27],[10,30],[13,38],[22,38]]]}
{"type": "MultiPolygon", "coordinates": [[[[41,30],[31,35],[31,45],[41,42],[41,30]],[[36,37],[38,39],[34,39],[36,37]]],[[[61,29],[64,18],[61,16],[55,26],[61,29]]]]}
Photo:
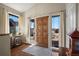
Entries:
{"type": "Polygon", "coordinates": [[[37,45],[48,47],[48,16],[36,18],[37,45]]]}

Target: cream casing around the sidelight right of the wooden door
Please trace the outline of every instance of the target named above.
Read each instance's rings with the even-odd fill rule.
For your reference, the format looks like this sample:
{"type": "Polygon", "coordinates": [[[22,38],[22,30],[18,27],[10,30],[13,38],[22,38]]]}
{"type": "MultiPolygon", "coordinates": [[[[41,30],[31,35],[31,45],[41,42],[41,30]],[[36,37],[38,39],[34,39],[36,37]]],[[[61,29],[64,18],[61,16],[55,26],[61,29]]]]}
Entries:
{"type": "Polygon", "coordinates": [[[65,37],[64,37],[64,11],[52,13],[49,15],[49,48],[52,48],[52,16],[60,15],[60,40],[59,40],[59,47],[65,46],[65,37]]]}

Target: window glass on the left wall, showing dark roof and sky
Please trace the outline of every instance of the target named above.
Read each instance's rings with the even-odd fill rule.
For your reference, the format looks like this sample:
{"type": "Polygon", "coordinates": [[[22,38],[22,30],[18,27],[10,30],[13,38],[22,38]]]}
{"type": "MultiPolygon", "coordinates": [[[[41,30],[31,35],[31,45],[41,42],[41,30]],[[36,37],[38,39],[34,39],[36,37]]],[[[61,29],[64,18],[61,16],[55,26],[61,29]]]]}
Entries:
{"type": "Polygon", "coordinates": [[[18,16],[9,14],[10,33],[16,34],[19,31],[18,28],[18,16]]]}

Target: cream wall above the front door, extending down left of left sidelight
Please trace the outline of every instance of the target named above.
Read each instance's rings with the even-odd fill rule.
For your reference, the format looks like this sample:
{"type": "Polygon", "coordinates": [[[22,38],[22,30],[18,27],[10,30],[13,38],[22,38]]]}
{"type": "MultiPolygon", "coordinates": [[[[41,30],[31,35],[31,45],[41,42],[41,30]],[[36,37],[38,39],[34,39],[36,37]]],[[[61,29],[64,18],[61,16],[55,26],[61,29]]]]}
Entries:
{"type": "Polygon", "coordinates": [[[37,4],[36,6],[32,7],[28,11],[24,13],[25,18],[25,33],[27,38],[27,43],[29,40],[29,20],[30,18],[37,18],[39,16],[49,16],[52,13],[57,13],[61,10],[65,10],[65,4],[62,3],[41,3],[37,4]]]}

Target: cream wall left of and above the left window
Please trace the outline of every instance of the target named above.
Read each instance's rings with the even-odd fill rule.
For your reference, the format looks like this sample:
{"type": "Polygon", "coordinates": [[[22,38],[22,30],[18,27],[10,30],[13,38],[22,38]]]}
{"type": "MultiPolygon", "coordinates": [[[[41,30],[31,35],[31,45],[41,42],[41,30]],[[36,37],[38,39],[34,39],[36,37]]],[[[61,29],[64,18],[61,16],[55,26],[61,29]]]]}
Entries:
{"type": "MultiPolygon", "coordinates": [[[[0,27],[2,30],[0,30],[1,33],[9,33],[9,18],[8,18],[8,13],[13,13],[15,15],[22,15],[20,12],[5,6],[0,3],[0,27]]],[[[0,33],[0,34],[1,34],[0,33]]]]}

